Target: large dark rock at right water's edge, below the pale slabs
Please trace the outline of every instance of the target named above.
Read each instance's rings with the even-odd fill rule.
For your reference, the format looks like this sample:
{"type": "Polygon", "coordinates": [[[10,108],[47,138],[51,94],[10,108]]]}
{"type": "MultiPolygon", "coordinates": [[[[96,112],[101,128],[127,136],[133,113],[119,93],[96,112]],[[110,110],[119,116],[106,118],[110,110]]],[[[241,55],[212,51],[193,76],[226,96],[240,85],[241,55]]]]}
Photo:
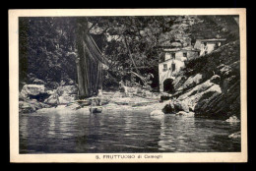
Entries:
{"type": "MultiPolygon", "coordinates": [[[[218,85],[215,85],[216,87],[218,85]]],[[[238,77],[231,76],[224,79],[218,91],[203,96],[195,106],[196,116],[218,117],[224,120],[230,116],[240,118],[240,81],[238,77]]],[[[215,89],[213,89],[215,90],[215,89]]]]}

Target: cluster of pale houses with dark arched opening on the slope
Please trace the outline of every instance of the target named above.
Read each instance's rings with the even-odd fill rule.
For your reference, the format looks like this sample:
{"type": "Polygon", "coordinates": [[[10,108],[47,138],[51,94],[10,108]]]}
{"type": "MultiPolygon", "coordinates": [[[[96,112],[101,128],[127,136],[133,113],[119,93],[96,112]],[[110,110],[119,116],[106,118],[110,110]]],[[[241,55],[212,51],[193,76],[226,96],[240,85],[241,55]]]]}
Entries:
{"type": "Polygon", "coordinates": [[[172,92],[177,73],[185,67],[185,61],[204,56],[219,48],[225,39],[197,39],[194,47],[163,47],[163,56],[159,63],[160,92],[172,92]]]}

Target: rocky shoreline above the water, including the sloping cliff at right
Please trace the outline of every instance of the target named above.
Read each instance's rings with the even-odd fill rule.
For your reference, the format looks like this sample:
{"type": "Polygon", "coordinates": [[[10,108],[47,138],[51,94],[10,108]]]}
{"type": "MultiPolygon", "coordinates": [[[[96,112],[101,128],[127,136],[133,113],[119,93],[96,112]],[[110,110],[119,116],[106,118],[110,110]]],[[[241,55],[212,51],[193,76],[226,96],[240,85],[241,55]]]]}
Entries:
{"type": "MultiPolygon", "coordinates": [[[[211,54],[189,61],[173,81],[173,94],[126,87],[122,92],[105,92],[101,99],[109,105],[155,106],[151,112],[159,111],[152,115],[194,115],[237,122],[240,119],[238,47],[238,41],[230,42],[211,54]]],[[[76,110],[81,107],[76,102],[78,85],[73,81],[57,84],[32,78],[29,83],[19,95],[21,113],[59,105],[76,110]]]]}

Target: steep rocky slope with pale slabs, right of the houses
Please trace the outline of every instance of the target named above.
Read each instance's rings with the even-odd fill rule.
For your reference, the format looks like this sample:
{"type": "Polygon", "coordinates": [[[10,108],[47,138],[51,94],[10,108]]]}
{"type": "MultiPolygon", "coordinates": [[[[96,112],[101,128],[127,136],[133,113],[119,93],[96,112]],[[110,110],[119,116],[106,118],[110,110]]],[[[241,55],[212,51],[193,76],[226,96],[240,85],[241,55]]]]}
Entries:
{"type": "Polygon", "coordinates": [[[239,41],[232,41],[188,61],[174,81],[173,95],[186,102],[196,117],[240,118],[239,49],[239,41]]]}

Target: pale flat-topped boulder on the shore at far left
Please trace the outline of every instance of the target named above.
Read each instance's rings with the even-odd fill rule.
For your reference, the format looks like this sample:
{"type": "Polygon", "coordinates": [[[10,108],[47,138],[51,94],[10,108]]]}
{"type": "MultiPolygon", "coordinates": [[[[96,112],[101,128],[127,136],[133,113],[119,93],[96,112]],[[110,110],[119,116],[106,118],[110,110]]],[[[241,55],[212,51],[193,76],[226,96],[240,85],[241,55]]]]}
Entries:
{"type": "Polygon", "coordinates": [[[44,93],[44,85],[24,85],[21,96],[28,98],[29,95],[38,95],[40,93],[44,93]]]}

